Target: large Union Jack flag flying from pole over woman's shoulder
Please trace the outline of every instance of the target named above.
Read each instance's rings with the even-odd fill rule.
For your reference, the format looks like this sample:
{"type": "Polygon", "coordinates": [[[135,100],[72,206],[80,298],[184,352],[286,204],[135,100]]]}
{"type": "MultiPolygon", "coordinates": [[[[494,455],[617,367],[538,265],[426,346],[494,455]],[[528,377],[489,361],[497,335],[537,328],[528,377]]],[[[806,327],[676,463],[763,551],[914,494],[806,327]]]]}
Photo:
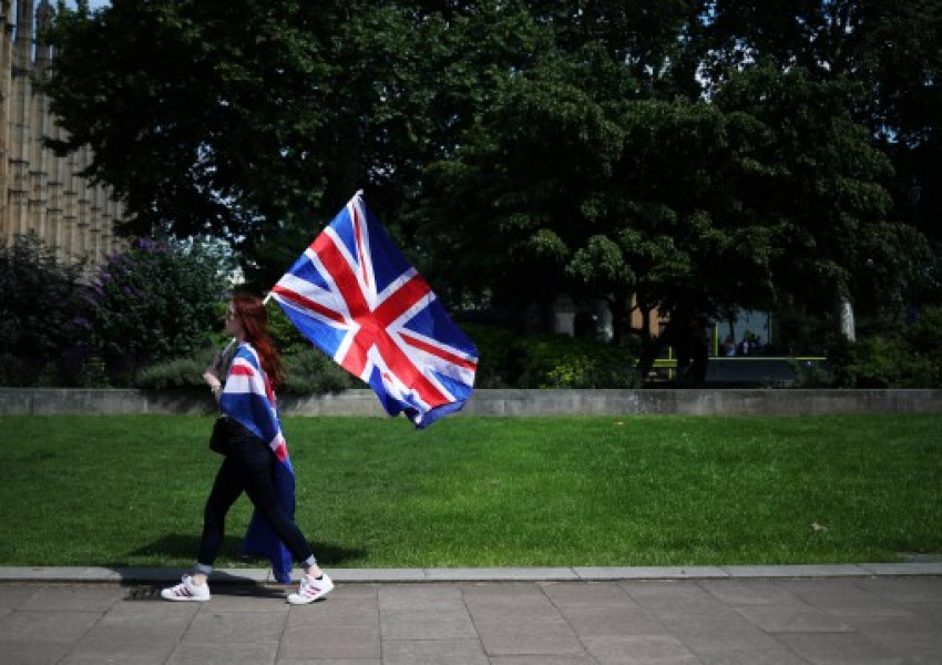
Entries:
{"type": "Polygon", "coordinates": [[[367,208],[347,203],[272,290],[291,323],[370,385],[390,416],[427,427],[471,397],[478,349],[367,208]]]}

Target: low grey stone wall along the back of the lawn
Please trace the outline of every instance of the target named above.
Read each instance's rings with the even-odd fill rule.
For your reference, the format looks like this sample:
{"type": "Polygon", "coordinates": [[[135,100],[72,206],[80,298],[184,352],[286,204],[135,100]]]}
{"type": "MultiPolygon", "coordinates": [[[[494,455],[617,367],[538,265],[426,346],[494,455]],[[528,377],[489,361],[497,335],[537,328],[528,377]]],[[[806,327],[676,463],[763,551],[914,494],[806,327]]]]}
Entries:
{"type": "MultiPolygon", "coordinates": [[[[280,400],[284,416],[383,416],[371,390],[280,400]]],[[[208,415],[208,390],[0,388],[0,416],[208,415]]],[[[942,390],[475,390],[465,416],[940,413],[942,390]]]]}

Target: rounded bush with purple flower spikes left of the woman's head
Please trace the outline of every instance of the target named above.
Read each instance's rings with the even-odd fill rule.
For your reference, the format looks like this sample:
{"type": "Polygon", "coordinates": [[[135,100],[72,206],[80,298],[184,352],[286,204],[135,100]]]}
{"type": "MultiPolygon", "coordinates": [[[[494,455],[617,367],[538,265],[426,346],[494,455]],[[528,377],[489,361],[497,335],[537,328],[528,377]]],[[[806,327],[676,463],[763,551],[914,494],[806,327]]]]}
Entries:
{"type": "Polygon", "coordinates": [[[149,365],[211,346],[225,288],[201,245],[139,242],[111,256],[92,285],[91,346],[125,385],[149,365]]]}

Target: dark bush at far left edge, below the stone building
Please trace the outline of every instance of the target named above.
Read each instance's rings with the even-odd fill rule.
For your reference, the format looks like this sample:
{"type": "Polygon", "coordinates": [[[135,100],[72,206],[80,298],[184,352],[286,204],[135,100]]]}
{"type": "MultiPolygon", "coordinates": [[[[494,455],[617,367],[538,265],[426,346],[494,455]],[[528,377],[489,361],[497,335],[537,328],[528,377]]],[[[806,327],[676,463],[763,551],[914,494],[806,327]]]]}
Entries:
{"type": "Polygon", "coordinates": [[[86,385],[81,263],[34,234],[0,239],[0,385],[86,385]]]}

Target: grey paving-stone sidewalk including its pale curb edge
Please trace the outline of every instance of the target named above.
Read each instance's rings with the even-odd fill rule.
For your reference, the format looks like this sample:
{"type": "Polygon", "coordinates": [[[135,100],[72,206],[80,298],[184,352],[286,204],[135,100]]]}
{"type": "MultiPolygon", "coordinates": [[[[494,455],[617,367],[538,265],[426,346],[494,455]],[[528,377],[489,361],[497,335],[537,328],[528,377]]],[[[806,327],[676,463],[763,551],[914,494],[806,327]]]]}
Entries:
{"type": "Polygon", "coordinates": [[[160,600],[175,571],[0,569],[0,664],[942,664],[940,564],[331,572],[290,606],[264,571],[201,604],[160,600]]]}

